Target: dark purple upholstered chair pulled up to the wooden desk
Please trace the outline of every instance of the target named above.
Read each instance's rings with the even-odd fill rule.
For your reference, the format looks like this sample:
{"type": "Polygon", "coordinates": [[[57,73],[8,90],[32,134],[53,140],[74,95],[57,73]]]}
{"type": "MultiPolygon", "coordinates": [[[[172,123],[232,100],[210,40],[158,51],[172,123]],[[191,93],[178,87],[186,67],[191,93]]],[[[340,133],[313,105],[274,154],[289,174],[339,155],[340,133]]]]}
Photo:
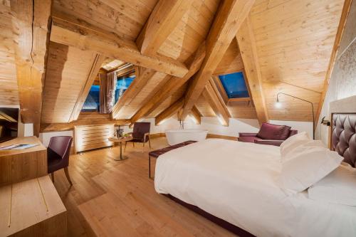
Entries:
{"type": "Polygon", "coordinates": [[[47,147],[48,174],[51,174],[53,182],[53,172],[58,169],[64,169],[69,184],[73,185],[68,173],[69,154],[72,141],[73,138],[70,136],[51,137],[51,140],[49,141],[47,147]]]}

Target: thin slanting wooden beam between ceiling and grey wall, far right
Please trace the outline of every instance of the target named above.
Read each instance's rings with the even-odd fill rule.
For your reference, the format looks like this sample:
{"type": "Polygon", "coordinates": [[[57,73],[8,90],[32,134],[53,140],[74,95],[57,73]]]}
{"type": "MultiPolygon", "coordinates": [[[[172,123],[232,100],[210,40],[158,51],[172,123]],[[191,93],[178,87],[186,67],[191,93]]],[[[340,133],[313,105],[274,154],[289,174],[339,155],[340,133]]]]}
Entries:
{"type": "MultiPolygon", "coordinates": [[[[337,52],[339,51],[340,42],[341,42],[341,38],[342,38],[342,33],[344,32],[344,28],[345,28],[345,25],[346,25],[347,17],[349,16],[351,3],[352,3],[352,0],[345,0],[344,6],[342,7],[342,14],[341,14],[341,17],[340,17],[339,26],[337,27],[337,32],[336,32],[336,36],[335,36],[333,51],[331,52],[330,61],[329,61],[329,65],[328,65],[328,70],[326,71],[326,75],[325,75],[323,90],[322,90],[321,95],[320,95],[319,107],[318,107],[318,110],[317,110],[317,112],[315,114],[315,119],[317,121],[319,119],[320,112],[321,112],[321,110],[323,108],[325,95],[328,92],[330,76],[331,76],[331,73],[333,73],[333,68],[334,68],[334,65],[335,65],[337,52]]],[[[315,123],[314,129],[316,128],[316,125],[317,124],[315,123]]]]}

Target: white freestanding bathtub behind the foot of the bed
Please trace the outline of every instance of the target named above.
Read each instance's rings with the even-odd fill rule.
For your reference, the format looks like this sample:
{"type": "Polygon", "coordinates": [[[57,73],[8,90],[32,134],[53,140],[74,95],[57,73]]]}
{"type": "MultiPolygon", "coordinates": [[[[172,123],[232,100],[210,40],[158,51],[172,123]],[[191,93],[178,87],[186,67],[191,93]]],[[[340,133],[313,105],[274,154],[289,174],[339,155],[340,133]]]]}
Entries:
{"type": "Polygon", "coordinates": [[[167,130],[166,137],[170,146],[189,140],[201,141],[206,139],[206,130],[167,130]]]}

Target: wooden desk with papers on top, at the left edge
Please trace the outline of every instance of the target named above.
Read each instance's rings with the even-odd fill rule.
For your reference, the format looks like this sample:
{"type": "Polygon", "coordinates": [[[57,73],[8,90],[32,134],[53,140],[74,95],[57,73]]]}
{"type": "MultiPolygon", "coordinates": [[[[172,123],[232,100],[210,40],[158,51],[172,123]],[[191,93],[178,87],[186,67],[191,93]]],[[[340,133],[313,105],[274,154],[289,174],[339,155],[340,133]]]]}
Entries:
{"type": "Polygon", "coordinates": [[[0,143],[0,147],[11,144],[38,144],[38,146],[0,151],[0,186],[43,177],[47,174],[47,149],[37,137],[17,137],[0,143]]]}

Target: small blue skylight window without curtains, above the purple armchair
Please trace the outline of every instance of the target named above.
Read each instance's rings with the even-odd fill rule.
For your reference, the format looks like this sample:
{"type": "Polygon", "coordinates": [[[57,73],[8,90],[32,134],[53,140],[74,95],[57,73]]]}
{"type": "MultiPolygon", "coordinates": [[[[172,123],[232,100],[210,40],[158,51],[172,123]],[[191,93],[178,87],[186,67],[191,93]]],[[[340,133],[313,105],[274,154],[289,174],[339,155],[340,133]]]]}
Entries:
{"type": "Polygon", "coordinates": [[[250,97],[250,95],[248,95],[248,89],[244,79],[244,73],[239,72],[219,75],[219,79],[229,99],[250,97]]]}

